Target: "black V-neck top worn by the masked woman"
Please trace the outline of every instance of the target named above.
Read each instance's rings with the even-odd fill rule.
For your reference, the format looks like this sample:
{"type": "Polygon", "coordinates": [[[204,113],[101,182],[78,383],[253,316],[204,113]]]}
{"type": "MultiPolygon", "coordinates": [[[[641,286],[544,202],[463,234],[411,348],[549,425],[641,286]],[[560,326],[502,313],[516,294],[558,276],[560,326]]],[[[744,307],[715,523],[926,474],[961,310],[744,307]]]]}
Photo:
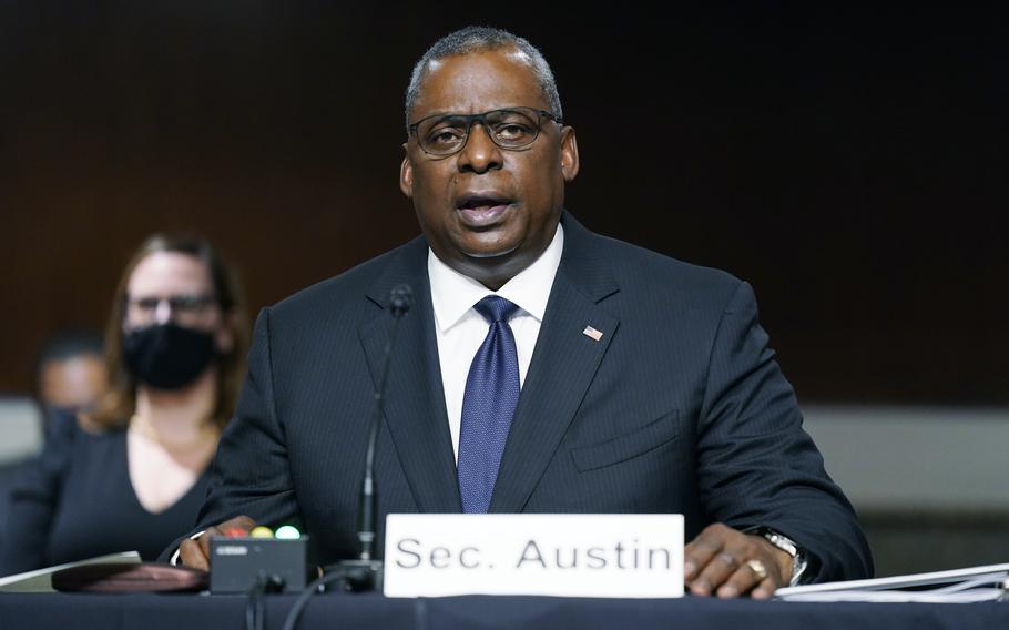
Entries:
{"type": "Polygon", "coordinates": [[[174,505],[151,514],[130,481],[126,433],[68,424],[13,484],[0,575],[118,551],[153,561],[196,520],[206,470],[174,505]]]}

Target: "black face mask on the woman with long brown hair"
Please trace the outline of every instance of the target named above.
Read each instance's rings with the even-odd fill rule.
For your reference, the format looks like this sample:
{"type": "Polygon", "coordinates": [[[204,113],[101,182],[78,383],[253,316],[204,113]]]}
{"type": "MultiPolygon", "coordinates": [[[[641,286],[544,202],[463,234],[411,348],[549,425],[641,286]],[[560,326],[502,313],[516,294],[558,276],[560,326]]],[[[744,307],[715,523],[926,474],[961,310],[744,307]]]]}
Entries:
{"type": "Polygon", "coordinates": [[[126,369],[159,389],[181,389],[203,374],[214,355],[214,334],[172,322],[123,335],[126,369]]]}

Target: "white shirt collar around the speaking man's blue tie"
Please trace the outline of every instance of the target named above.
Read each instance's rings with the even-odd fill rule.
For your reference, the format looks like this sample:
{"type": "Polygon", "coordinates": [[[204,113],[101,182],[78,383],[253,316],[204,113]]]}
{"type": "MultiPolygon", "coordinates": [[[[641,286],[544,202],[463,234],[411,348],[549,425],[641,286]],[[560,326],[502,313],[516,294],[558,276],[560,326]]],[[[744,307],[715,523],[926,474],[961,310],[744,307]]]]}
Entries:
{"type": "Polygon", "coordinates": [[[446,265],[428,247],[427,273],[431,281],[431,304],[438,329],[446,332],[458,324],[473,304],[488,295],[500,295],[542,322],[563,250],[564,228],[558,223],[553,240],[540,257],[504,283],[504,286],[498,291],[490,291],[473,278],[446,265]]]}

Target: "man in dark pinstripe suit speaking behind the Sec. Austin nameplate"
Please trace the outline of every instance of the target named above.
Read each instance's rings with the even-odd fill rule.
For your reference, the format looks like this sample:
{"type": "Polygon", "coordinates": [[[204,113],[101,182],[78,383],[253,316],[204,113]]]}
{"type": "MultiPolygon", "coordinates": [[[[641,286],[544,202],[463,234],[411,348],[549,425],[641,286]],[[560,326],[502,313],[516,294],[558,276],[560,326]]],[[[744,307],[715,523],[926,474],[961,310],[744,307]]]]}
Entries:
{"type": "MultiPolygon", "coordinates": [[[[564,212],[578,145],[539,51],[502,31],[452,33],[418,62],[406,109],[400,187],[424,236],[263,311],[200,528],[294,522],[320,562],[355,555],[389,294],[408,284],[380,522],[679,512],[694,593],[868,576],[750,286],[564,212]]],[[[182,543],[186,565],[206,566],[207,538],[182,543]]]]}

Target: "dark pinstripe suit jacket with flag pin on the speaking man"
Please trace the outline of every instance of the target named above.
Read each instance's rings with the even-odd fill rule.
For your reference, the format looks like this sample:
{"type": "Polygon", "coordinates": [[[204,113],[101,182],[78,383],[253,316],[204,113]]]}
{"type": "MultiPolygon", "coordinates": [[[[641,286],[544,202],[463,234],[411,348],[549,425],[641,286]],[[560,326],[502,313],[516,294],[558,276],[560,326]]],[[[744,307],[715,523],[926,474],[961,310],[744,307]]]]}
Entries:
{"type": "MultiPolygon", "coordinates": [[[[679,512],[687,539],[712,521],[767,526],[811,553],[817,579],[870,575],[853,509],[802,430],[750,286],[595,235],[567,213],[563,224],[490,511],[679,512]]],[[[461,511],[427,255],[418,237],[262,312],[200,529],[245,514],[306,528],[320,563],[356,555],[387,302],[402,283],[416,302],[388,377],[379,522],[461,511]]]]}

